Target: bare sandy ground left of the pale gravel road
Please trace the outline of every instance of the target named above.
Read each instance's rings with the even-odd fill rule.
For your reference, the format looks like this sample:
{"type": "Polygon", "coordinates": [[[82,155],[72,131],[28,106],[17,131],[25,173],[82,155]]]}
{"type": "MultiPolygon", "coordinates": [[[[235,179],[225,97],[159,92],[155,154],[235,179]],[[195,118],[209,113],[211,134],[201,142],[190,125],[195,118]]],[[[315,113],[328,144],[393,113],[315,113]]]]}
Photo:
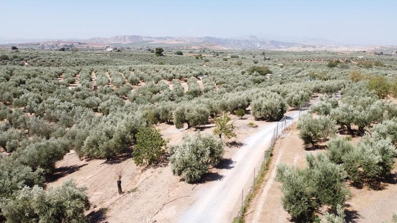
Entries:
{"type": "MultiPolygon", "coordinates": [[[[144,169],[134,165],[131,155],[121,156],[112,161],[80,161],[71,151],[57,164],[57,171],[49,186],[60,185],[66,179],[73,179],[79,186],[85,186],[92,204],[92,208],[86,213],[93,216],[91,222],[176,222],[176,217],[193,204],[193,195],[197,190],[222,178],[218,172],[230,166],[228,158],[240,150],[241,142],[249,135],[260,131],[262,127],[271,124],[255,121],[251,114],[245,115],[243,119],[234,115],[231,117],[238,135],[236,139],[232,139],[236,143],[226,147],[222,164],[212,168],[199,183],[187,184],[181,177],[172,174],[168,164],[144,169]],[[248,122],[254,122],[259,127],[249,127],[248,122]],[[124,195],[117,192],[116,172],[120,169],[124,170],[124,195]],[[100,214],[100,208],[108,208],[106,215],[100,214]]],[[[213,123],[209,123],[198,129],[182,130],[169,124],[159,124],[155,127],[160,129],[165,139],[170,140],[170,144],[176,144],[181,142],[185,134],[195,134],[197,130],[212,132],[213,126],[213,123]]]]}

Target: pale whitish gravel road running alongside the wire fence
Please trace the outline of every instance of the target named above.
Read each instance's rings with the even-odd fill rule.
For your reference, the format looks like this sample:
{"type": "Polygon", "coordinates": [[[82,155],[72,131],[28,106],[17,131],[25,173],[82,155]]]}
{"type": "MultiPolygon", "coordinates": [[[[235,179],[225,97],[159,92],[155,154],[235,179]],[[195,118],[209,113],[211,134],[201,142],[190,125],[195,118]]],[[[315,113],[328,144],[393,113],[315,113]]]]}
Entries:
{"type": "MultiPolygon", "coordinates": [[[[299,111],[287,113],[288,125],[298,120],[299,111]],[[292,118],[294,117],[294,118],[292,118]]],[[[266,126],[243,141],[242,146],[231,158],[233,166],[222,169],[221,180],[209,182],[194,194],[195,202],[178,220],[181,223],[228,223],[237,215],[241,198],[246,196],[254,179],[254,170],[261,166],[266,149],[276,127],[275,122],[266,126]]]]}

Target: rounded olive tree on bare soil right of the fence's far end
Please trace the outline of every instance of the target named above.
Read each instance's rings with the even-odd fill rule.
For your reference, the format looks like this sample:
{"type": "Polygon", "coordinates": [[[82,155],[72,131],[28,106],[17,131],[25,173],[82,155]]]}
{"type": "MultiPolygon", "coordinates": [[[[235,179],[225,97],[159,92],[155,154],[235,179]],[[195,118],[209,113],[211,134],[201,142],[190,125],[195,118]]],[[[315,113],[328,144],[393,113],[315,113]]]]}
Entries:
{"type": "Polygon", "coordinates": [[[299,137],[307,145],[315,145],[320,140],[325,140],[336,132],[335,122],[330,116],[314,118],[312,114],[304,114],[297,125],[299,137]]]}

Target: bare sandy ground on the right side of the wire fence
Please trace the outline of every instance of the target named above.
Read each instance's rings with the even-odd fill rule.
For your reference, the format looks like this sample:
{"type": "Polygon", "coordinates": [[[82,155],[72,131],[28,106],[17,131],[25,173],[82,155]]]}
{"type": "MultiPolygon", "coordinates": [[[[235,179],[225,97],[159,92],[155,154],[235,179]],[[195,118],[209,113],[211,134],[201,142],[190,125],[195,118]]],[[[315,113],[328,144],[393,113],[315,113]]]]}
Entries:
{"type": "MultiPolygon", "coordinates": [[[[353,143],[356,143],[357,138],[353,139],[353,143]]],[[[286,163],[304,167],[306,154],[318,152],[325,152],[325,150],[307,151],[304,149],[303,141],[299,138],[299,131],[296,128],[292,128],[284,139],[278,139],[269,171],[261,190],[251,202],[245,217],[246,222],[290,222],[290,216],[281,204],[280,183],[274,180],[276,166],[286,163]]],[[[397,211],[397,168],[392,172],[388,182],[382,184],[382,190],[356,188],[349,185],[352,197],[346,202],[345,209],[348,222],[374,223],[391,219],[393,213],[397,211]]]]}

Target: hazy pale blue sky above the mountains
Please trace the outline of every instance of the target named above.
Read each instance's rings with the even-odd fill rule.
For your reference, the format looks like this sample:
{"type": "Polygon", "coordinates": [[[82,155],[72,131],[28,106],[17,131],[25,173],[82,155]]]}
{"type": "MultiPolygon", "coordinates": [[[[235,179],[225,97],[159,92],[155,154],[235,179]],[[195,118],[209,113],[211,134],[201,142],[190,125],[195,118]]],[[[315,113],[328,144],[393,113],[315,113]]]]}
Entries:
{"type": "Polygon", "coordinates": [[[321,38],[397,45],[397,0],[0,0],[0,37],[321,38]]]}

